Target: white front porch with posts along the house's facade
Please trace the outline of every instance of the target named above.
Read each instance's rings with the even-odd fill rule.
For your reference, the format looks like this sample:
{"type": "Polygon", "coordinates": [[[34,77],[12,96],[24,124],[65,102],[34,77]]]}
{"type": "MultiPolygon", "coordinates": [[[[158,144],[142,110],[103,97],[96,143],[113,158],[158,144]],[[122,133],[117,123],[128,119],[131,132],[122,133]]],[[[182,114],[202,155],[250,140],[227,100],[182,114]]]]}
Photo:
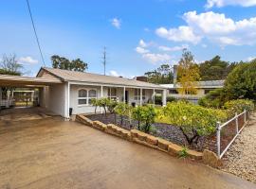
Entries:
{"type": "Polygon", "coordinates": [[[166,90],[164,89],[70,82],[69,91],[69,108],[72,109],[72,114],[95,112],[91,100],[102,97],[138,106],[155,104],[155,94],[161,93],[162,104],[166,105],[166,90]]]}

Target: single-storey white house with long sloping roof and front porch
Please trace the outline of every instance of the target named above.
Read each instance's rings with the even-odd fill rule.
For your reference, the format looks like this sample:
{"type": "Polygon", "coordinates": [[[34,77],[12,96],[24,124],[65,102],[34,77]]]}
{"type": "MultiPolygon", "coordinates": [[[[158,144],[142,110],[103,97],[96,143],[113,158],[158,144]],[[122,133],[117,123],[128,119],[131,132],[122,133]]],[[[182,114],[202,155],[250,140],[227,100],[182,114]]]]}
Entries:
{"type": "MultiPolygon", "coordinates": [[[[162,93],[166,104],[166,89],[160,85],[123,77],[41,68],[36,78],[57,79],[60,83],[39,89],[39,104],[52,112],[69,118],[72,114],[92,113],[93,98],[109,97],[128,104],[155,103],[155,93],[162,93]]],[[[98,109],[100,111],[100,109],[98,109]]]]}

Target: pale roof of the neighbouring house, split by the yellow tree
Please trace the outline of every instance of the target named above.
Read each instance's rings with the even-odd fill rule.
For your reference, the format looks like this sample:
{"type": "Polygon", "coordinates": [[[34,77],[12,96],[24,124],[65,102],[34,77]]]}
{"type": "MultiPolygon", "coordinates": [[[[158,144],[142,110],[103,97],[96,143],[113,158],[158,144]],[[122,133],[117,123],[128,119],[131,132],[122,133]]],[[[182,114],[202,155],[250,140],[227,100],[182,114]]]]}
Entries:
{"type": "MultiPolygon", "coordinates": [[[[200,89],[211,89],[211,88],[222,88],[224,86],[225,80],[205,80],[205,81],[197,81],[195,83],[196,88],[200,89]]],[[[162,84],[162,87],[167,89],[176,89],[180,87],[180,84],[162,84]]]]}

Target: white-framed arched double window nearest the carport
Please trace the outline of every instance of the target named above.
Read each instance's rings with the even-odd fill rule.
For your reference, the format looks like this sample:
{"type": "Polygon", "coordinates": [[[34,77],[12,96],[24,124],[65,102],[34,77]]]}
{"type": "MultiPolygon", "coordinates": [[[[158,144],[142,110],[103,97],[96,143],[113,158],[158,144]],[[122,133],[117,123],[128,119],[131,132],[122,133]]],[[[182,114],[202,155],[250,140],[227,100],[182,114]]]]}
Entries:
{"type": "Polygon", "coordinates": [[[90,105],[91,100],[97,98],[97,91],[95,89],[80,89],[78,91],[78,105],[90,105]]]}

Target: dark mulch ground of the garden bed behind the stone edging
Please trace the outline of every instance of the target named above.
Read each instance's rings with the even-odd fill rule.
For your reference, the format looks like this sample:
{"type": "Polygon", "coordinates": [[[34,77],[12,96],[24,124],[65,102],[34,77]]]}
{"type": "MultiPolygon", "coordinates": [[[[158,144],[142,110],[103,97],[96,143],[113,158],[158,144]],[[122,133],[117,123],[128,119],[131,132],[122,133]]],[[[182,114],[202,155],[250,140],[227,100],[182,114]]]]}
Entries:
{"type": "MultiPolygon", "coordinates": [[[[107,113],[104,114],[90,114],[86,115],[92,121],[101,121],[104,124],[115,124],[123,129],[137,129],[137,121],[129,120],[128,117],[124,117],[123,122],[121,124],[121,119],[119,115],[107,113]]],[[[210,151],[216,152],[216,137],[215,135],[208,136],[208,137],[201,137],[198,141],[198,144],[195,146],[189,146],[186,142],[184,135],[182,134],[181,130],[169,124],[163,123],[155,123],[152,126],[152,130],[150,134],[166,139],[176,145],[179,146],[188,146],[191,149],[196,151],[203,151],[204,149],[210,149],[210,151]]]]}

